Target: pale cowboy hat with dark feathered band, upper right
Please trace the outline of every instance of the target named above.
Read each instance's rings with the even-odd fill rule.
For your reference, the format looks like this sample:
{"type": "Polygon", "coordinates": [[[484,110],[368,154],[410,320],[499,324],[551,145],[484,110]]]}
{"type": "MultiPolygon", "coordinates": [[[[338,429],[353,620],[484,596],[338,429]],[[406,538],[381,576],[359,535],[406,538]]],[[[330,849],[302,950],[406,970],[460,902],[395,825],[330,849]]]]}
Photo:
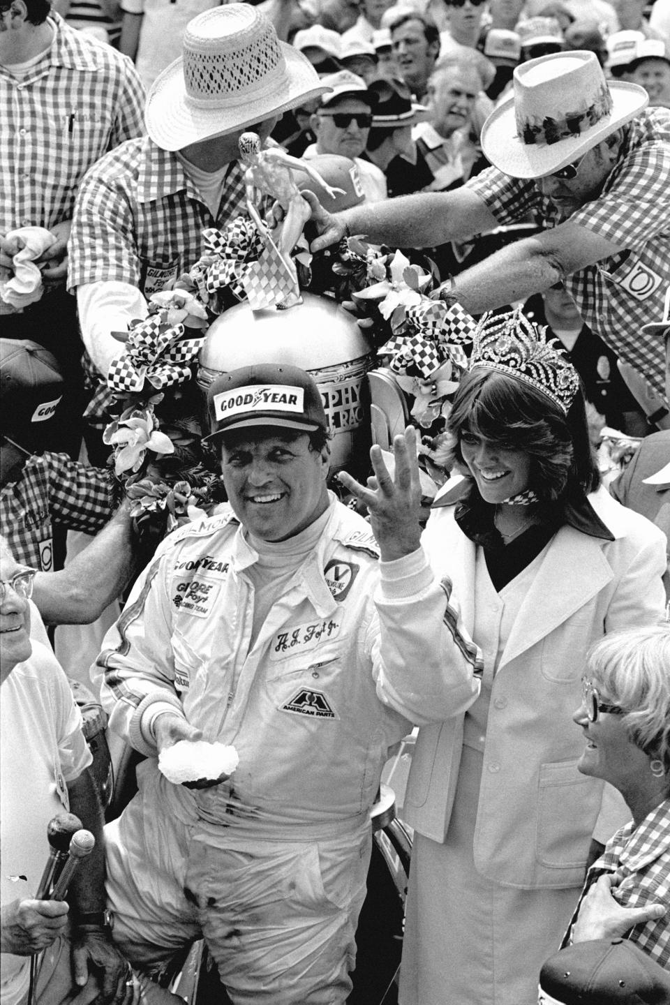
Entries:
{"type": "Polygon", "coordinates": [[[580,49],[521,63],[513,81],[481,132],[484,155],[512,178],[553,174],[649,104],[644,87],[606,80],[596,54],[580,49]]]}

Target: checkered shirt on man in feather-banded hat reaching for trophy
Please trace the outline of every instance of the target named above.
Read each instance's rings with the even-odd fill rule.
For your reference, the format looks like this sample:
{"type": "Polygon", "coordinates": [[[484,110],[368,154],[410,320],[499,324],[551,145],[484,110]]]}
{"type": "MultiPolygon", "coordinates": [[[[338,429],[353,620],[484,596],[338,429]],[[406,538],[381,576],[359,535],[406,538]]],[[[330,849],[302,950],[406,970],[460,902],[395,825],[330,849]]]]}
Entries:
{"type": "MultiPolygon", "coordinates": [[[[625,134],[602,194],[570,217],[625,250],[580,269],[566,285],[587,325],[663,393],[663,340],[641,328],[663,317],[670,283],[670,111],[643,112],[625,134]]],[[[489,168],[466,185],[500,224],[527,212],[545,227],[563,222],[532,181],[489,168]]]]}

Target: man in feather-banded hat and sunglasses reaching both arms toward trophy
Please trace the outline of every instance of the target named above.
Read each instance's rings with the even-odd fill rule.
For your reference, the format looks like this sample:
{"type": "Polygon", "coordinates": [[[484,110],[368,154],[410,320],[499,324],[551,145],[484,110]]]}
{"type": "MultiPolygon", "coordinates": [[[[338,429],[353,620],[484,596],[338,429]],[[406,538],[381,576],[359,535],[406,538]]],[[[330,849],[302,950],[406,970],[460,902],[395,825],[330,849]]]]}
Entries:
{"type": "Polygon", "coordinates": [[[647,104],[636,84],[606,81],[593,52],[522,63],[482,130],[490,168],[450,192],[338,217],[314,204],[312,249],[347,228],[377,243],[434,246],[529,213],[541,233],[447,279],[442,298],[481,314],[563,281],[585,323],[662,393],[662,347],[642,326],[661,314],[670,282],[670,111],[647,104]]]}

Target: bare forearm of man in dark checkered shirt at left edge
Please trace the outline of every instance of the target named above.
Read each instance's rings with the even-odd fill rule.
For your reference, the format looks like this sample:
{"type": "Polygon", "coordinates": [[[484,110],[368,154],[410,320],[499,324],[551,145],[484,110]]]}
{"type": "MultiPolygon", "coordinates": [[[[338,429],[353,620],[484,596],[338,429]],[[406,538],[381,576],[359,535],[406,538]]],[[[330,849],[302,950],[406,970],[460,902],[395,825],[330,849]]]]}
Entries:
{"type": "Polygon", "coordinates": [[[37,573],[33,599],[47,624],[88,624],[116,600],[136,572],[128,501],[64,569],[37,573]]]}

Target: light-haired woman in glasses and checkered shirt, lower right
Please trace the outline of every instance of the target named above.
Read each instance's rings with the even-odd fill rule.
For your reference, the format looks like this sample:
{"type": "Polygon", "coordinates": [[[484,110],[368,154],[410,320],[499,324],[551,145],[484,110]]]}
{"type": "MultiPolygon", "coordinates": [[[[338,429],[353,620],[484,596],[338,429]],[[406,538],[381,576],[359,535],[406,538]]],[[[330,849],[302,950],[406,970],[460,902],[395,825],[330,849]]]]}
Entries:
{"type": "Polygon", "coordinates": [[[577,767],[619,789],[633,819],[589,869],[566,942],[630,939],[670,970],[670,623],[606,635],[583,685],[577,767]]]}

